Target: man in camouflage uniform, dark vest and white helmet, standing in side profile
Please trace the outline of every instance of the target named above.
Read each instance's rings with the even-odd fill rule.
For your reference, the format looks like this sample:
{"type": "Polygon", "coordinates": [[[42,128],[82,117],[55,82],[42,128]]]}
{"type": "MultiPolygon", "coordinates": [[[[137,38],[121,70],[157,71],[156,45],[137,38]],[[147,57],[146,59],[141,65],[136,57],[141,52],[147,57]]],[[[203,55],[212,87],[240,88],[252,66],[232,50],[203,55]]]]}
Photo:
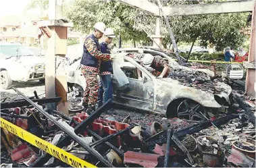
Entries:
{"type": "Polygon", "coordinates": [[[87,108],[86,113],[95,111],[95,105],[99,96],[99,82],[97,75],[99,75],[99,67],[101,60],[109,61],[113,59],[114,55],[101,53],[99,45],[99,38],[103,36],[105,32],[105,24],[103,22],[97,22],[93,26],[93,34],[88,35],[85,38],[83,46],[83,54],[81,59],[81,71],[86,80],[86,88],[83,95],[83,106],[87,108]]]}

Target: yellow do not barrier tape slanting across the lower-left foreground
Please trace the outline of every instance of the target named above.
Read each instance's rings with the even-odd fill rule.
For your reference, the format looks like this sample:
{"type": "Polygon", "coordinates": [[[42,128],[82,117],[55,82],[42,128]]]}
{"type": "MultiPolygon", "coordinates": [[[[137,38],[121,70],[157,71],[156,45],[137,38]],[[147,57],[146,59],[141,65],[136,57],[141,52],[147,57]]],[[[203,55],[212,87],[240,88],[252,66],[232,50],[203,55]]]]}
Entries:
{"type": "Polygon", "coordinates": [[[67,163],[72,167],[96,167],[91,163],[88,163],[78,157],[75,157],[74,155],[71,155],[69,152],[66,152],[63,149],[58,148],[57,146],[54,146],[53,144],[46,142],[45,140],[42,140],[37,136],[34,136],[30,132],[27,132],[22,128],[19,128],[18,126],[14,125],[13,123],[10,123],[9,121],[6,121],[3,118],[0,118],[0,121],[1,128],[4,128],[5,130],[11,132],[12,134],[22,138],[23,140],[26,140],[26,142],[36,146],[37,148],[41,148],[42,150],[49,153],[53,157],[63,161],[64,163],[67,163]]]}

